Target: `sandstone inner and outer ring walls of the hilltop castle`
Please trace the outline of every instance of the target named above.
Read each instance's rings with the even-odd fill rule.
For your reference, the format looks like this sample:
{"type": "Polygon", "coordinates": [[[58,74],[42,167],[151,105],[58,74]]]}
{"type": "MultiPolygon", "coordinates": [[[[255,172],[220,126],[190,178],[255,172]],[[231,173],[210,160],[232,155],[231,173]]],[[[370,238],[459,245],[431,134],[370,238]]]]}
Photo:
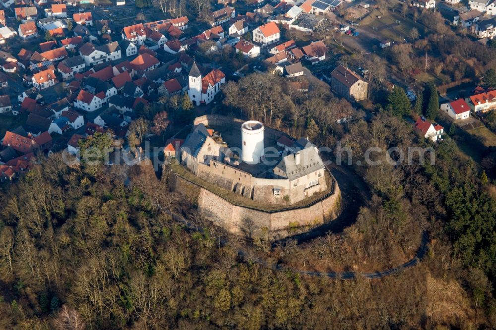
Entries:
{"type": "MultiPolygon", "coordinates": [[[[197,117],[194,120],[194,125],[203,123],[207,127],[221,126],[225,128],[232,127],[241,129],[243,122],[244,121],[240,119],[222,115],[204,115],[197,117]]],[[[265,134],[270,135],[276,140],[281,136],[291,138],[285,133],[269,127],[265,127],[265,134]]],[[[282,204],[280,201],[272,201],[271,199],[283,198],[285,196],[283,191],[290,191],[290,187],[287,186],[289,184],[289,180],[287,179],[256,178],[239,168],[217,161],[211,161],[210,166],[199,164],[197,175],[205,181],[215,182],[216,185],[224,189],[233,191],[247,198],[252,198],[254,201],[263,202],[264,204],[270,204],[270,202],[279,202],[277,204],[282,204]],[[270,185],[267,186],[267,184],[270,185]],[[272,186],[277,186],[281,189],[280,197],[274,196],[271,188],[265,189],[266,191],[260,189],[272,186]],[[252,188],[247,189],[247,187],[252,188]],[[255,189],[260,190],[255,193],[255,189]],[[253,194],[256,196],[255,198],[253,198],[253,194]]],[[[176,191],[182,192],[189,195],[190,198],[197,200],[198,210],[206,219],[211,220],[232,233],[242,234],[240,228],[243,226],[243,220],[246,218],[255,221],[256,230],[265,228],[269,232],[283,230],[289,226],[318,224],[334,219],[339,211],[341,193],[336,180],[332,174],[330,174],[330,176],[332,186],[327,187],[330,189],[329,194],[326,194],[322,198],[309,203],[306,206],[292,207],[291,205],[287,205],[286,207],[281,206],[280,209],[275,211],[262,211],[252,207],[235,205],[212,191],[200,187],[178,175],[174,175],[172,186],[176,191]]],[[[325,180],[325,176],[320,179],[325,180]]]]}

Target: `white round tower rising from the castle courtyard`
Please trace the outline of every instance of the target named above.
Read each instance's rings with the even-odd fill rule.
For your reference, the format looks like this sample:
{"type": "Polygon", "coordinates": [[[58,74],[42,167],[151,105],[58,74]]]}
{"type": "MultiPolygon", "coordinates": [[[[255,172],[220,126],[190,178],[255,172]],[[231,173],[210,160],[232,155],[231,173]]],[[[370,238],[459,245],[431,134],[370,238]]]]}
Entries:
{"type": "Polygon", "coordinates": [[[258,164],[263,157],[263,124],[248,120],[241,125],[242,159],[247,164],[258,164]]]}

